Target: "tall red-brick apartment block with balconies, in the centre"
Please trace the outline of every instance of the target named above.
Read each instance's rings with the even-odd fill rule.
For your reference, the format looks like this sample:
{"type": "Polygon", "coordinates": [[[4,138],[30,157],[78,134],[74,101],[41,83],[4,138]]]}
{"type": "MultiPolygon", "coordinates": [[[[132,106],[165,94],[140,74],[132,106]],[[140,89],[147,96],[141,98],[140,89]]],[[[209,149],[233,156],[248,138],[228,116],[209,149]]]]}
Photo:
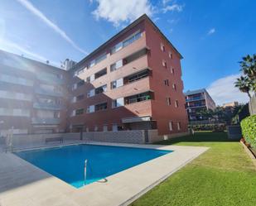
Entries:
{"type": "Polygon", "coordinates": [[[143,15],[81,60],[70,74],[70,132],[187,132],[181,54],[143,15]]]}

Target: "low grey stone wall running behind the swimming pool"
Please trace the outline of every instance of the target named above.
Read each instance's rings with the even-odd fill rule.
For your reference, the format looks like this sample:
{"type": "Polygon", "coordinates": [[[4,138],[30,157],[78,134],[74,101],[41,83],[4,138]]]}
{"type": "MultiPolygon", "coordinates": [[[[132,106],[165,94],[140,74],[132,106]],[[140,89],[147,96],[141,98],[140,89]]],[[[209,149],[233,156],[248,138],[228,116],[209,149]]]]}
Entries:
{"type": "MultiPolygon", "coordinates": [[[[117,142],[130,144],[145,144],[156,141],[162,141],[172,137],[184,136],[187,133],[176,133],[172,135],[160,136],[157,130],[131,130],[118,132],[83,132],[83,141],[101,141],[101,142],[117,142]]],[[[32,148],[36,146],[47,146],[51,144],[58,144],[60,138],[65,141],[80,141],[80,132],[74,133],[55,133],[55,134],[22,134],[13,135],[12,146],[14,148],[32,148]],[[55,139],[49,141],[49,139],[55,139]],[[46,139],[48,142],[46,142],[46,139]]]]}

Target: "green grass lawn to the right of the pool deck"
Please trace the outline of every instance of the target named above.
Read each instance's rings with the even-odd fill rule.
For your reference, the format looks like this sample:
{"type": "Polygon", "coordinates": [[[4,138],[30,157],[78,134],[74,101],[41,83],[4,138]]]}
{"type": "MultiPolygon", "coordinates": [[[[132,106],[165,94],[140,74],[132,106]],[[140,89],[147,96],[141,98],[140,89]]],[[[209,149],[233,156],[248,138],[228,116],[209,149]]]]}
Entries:
{"type": "Polygon", "coordinates": [[[255,167],[240,143],[229,141],[226,133],[197,132],[158,144],[210,149],[131,205],[256,205],[255,167]]]}

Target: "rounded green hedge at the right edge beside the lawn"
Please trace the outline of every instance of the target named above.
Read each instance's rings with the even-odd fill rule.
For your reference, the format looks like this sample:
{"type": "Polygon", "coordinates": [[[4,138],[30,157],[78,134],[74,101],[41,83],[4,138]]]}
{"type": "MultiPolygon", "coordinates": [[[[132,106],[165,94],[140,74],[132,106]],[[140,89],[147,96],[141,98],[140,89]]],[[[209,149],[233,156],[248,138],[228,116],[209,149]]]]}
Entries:
{"type": "Polygon", "coordinates": [[[256,148],[256,115],[244,118],[241,128],[245,141],[256,148]]]}

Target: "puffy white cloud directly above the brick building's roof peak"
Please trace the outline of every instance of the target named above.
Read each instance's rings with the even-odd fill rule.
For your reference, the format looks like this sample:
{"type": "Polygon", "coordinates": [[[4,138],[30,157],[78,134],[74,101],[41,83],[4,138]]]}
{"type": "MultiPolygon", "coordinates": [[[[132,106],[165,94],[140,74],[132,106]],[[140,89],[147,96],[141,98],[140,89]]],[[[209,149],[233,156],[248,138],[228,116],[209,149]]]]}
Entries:
{"type": "Polygon", "coordinates": [[[119,26],[122,22],[132,22],[142,14],[152,16],[153,7],[148,0],[95,0],[98,7],[93,15],[96,19],[104,18],[119,26]]]}

